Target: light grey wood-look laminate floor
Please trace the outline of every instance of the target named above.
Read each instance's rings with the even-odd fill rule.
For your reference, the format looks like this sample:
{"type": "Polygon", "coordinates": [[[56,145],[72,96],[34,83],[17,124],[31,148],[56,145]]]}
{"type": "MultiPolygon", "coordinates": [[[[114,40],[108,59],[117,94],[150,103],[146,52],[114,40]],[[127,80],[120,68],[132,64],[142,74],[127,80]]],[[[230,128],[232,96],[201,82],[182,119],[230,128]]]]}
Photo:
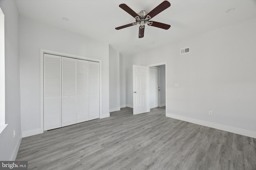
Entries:
{"type": "Polygon", "coordinates": [[[256,170],[256,139],[129,107],[22,139],[32,170],[256,170]]]}

